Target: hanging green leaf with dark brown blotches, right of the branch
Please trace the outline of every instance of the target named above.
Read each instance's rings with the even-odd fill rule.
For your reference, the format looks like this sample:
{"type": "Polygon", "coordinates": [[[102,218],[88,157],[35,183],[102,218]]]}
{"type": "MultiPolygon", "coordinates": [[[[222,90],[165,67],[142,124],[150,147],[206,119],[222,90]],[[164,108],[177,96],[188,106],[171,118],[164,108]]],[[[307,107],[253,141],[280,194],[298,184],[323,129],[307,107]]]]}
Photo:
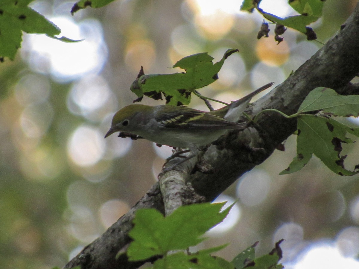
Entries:
{"type": "MultiPolygon", "coordinates": [[[[330,117],[303,114],[298,116],[297,156],[289,167],[280,175],[293,173],[302,169],[315,154],[334,173],[355,175],[359,171],[344,168],[346,155],[341,156],[341,143],[353,143],[346,137],[349,132],[359,136],[359,128],[350,128],[330,117]]],[[[357,167],[355,167],[356,169],[357,167]]]]}

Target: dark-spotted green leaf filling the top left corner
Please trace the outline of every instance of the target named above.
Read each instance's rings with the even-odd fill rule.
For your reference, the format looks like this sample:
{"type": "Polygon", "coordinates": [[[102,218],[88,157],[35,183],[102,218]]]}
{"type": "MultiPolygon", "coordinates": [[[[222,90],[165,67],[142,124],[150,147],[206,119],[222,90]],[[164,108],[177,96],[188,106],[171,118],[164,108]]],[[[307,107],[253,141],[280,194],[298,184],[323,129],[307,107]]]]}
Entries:
{"type": "Polygon", "coordinates": [[[31,0],[6,0],[0,3],[0,56],[14,60],[21,46],[22,32],[55,36],[60,29],[29,8],[31,0]]]}

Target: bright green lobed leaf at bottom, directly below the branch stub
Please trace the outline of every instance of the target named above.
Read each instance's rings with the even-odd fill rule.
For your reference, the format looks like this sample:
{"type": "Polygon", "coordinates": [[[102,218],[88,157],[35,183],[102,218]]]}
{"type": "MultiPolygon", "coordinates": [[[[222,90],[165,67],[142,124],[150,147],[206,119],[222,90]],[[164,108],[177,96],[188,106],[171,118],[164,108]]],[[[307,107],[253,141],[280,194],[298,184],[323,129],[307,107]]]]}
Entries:
{"type": "Polygon", "coordinates": [[[170,250],[183,250],[204,240],[199,238],[221,222],[232,206],[219,212],[224,203],[182,206],[170,216],[155,209],[140,209],[129,235],[134,239],[127,250],[129,260],[144,260],[165,255],[170,250]]]}

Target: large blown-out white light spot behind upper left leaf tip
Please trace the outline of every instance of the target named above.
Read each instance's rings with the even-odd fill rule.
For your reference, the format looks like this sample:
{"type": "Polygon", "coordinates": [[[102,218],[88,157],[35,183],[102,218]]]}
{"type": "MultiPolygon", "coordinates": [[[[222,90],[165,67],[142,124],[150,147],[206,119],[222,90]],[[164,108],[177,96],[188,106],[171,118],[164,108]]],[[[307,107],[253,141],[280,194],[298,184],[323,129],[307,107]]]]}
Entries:
{"type": "Polygon", "coordinates": [[[30,67],[53,79],[68,82],[88,72],[98,73],[107,59],[102,26],[98,20],[86,19],[76,23],[70,16],[49,18],[62,30],[61,35],[76,43],[65,43],[45,35],[24,35],[22,57],[30,67]]]}

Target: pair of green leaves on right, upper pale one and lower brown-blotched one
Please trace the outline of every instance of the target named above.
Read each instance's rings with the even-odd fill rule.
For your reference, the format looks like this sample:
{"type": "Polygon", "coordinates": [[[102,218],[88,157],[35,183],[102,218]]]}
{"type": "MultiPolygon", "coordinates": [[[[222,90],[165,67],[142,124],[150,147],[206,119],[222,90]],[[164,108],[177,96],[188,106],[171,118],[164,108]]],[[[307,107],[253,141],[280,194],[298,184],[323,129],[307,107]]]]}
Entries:
{"type": "MultiPolygon", "coordinates": [[[[355,175],[359,173],[359,166],[354,171],[345,169],[346,155],[341,155],[342,143],[353,143],[347,137],[350,133],[359,136],[359,128],[350,128],[335,121],[330,116],[359,115],[358,95],[339,95],[329,88],[318,87],[312,90],[300,105],[297,114],[297,156],[287,169],[280,174],[298,171],[307,164],[312,155],[316,155],[333,172],[339,175],[355,175]],[[322,113],[314,115],[308,112],[322,113]]],[[[291,116],[292,117],[292,116],[291,116]]]]}

